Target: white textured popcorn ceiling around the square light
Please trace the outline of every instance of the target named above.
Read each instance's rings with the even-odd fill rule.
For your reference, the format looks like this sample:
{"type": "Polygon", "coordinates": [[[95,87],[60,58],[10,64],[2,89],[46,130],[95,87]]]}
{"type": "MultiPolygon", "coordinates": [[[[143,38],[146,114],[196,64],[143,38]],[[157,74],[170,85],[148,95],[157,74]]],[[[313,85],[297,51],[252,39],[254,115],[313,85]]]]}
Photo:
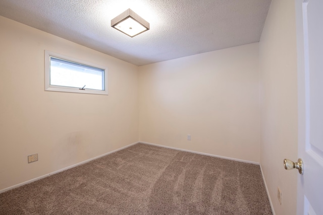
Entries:
{"type": "Polygon", "coordinates": [[[271,0],[0,0],[0,16],[144,65],[258,42],[271,0]],[[111,20],[130,8],[150,23],[133,38],[111,20]]]}

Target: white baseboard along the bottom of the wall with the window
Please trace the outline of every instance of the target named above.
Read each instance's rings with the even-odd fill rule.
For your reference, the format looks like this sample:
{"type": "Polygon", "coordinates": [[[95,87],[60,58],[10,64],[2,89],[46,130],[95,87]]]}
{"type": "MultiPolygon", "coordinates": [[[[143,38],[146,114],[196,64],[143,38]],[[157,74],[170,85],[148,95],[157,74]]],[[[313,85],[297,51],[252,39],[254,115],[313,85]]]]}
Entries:
{"type": "Polygon", "coordinates": [[[74,165],[69,166],[69,167],[65,167],[65,168],[60,169],[60,170],[57,170],[57,171],[55,171],[55,172],[51,172],[51,173],[48,173],[48,174],[45,174],[45,175],[39,176],[39,177],[37,177],[37,178],[33,178],[33,179],[31,179],[31,180],[28,180],[28,181],[25,181],[25,182],[22,182],[22,183],[16,184],[16,185],[14,185],[14,186],[11,186],[11,187],[8,187],[8,188],[5,188],[5,189],[2,189],[2,190],[0,190],[0,193],[6,192],[6,191],[8,191],[8,190],[11,190],[11,189],[14,189],[14,188],[17,188],[17,187],[20,187],[20,186],[25,185],[25,184],[29,184],[29,183],[31,183],[31,182],[34,182],[34,181],[37,181],[37,180],[39,180],[39,179],[42,179],[42,178],[48,177],[48,176],[50,176],[50,175],[53,175],[53,174],[56,174],[56,173],[59,173],[59,172],[63,172],[63,171],[65,171],[65,170],[71,169],[71,168],[76,167],[76,166],[79,166],[79,165],[81,165],[81,164],[85,164],[85,163],[87,163],[87,162],[93,161],[93,160],[98,159],[98,158],[101,158],[101,157],[103,157],[103,156],[106,156],[106,155],[112,154],[112,153],[114,153],[114,152],[118,152],[118,151],[120,151],[120,150],[126,149],[126,148],[128,148],[128,147],[130,147],[130,146],[132,146],[132,145],[138,144],[138,143],[139,143],[139,142],[134,142],[133,144],[130,144],[130,145],[125,146],[125,147],[122,147],[122,148],[120,148],[120,149],[116,149],[116,150],[114,150],[114,151],[111,151],[111,152],[105,153],[105,154],[103,154],[103,155],[99,155],[99,156],[97,156],[97,157],[94,157],[94,158],[88,159],[88,160],[86,160],[86,161],[82,161],[82,162],[80,162],[80,163],[74,164],[74,165]]]}

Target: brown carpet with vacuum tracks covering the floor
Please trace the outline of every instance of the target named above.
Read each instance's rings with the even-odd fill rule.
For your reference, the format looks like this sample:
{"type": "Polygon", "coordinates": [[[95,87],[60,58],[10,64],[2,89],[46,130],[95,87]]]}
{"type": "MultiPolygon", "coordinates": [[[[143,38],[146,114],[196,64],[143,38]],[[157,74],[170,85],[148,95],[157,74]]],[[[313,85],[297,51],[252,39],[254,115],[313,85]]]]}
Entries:
{"type": "Polygon", "coordinates": [[[272,214],[258,165],[137,144],[0,194],[0,214],[272,214]]]}

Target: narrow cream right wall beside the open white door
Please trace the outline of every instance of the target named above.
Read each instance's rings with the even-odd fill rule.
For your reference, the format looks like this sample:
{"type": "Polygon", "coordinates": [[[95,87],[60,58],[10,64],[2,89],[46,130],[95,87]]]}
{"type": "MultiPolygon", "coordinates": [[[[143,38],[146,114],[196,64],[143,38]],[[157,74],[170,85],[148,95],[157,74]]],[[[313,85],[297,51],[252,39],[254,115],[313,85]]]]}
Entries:
{"type": "Polygon", "coordinates": [[[260,164],[276,214],[296,214],[297,53],[295,2],[273,0],[259,43],[261,71],[260,164]],[[282,191],[282,204],[277,188],[282,191]]]}

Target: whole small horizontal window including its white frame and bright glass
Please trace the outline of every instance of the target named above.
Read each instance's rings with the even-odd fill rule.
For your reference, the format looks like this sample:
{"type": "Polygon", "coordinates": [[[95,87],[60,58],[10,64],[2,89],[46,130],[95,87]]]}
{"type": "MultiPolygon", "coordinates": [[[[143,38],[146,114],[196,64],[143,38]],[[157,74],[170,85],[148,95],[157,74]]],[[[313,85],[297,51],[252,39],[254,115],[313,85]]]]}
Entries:
{"type": "Polygon", "coordinates": [[[45,90],[107,95],[107,72],[61,54],[45,51],[45,90]]]}

